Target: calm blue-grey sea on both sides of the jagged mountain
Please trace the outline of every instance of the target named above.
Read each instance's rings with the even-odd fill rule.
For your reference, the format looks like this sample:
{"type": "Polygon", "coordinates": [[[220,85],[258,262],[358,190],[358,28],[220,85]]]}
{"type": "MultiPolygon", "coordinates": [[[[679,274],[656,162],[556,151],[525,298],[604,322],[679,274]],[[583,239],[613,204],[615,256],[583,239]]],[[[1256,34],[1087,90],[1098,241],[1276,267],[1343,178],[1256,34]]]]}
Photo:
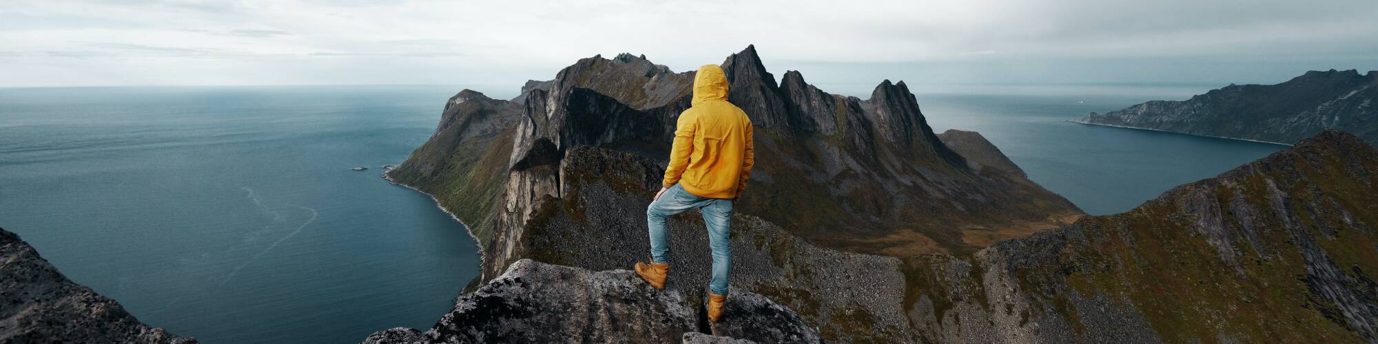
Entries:
{"type": "MultiPolygon", "coordinates": [[[[1065,121],[1211,85],[911,87],[936,131],[980,131],[1090,213],[1284,149],[1065,121]]],[[[430,327],[478,255],[379,165],[420,146],[460,88],[0,89],[0,227],[141,321],[205,343],[430,327]]]]}

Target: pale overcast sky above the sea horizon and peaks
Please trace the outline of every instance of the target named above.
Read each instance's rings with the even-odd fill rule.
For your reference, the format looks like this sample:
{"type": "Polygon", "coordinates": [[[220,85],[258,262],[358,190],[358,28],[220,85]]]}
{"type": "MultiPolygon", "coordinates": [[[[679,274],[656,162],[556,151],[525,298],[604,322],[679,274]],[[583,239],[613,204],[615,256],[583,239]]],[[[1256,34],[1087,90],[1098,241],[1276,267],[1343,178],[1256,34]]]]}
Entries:
{"type": "Polygon", "coordinates": [[[747,44],[810,83],[1279,83],[1378,69],[1375,19],[1375,0],[0,0],[0,87],[520,85],[747,44]]]}

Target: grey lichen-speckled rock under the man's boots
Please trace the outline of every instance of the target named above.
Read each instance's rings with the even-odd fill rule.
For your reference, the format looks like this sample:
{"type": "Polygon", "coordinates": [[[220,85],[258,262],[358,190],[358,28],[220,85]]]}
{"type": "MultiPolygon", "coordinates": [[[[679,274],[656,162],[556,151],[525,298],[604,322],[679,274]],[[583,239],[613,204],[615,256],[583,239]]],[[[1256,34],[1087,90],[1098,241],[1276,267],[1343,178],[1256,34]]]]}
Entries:
{"type": "MultiPolygon", "coordinates": [[[[520,260],[502,277],[462,296],[455,310],[424,333],[390,329],[365,343],[645,343],[681,341],[708,329],[701,299],[671,283],[656,290],[627,270],[588,271],[520,260]]],[[[737,292],[728,300],[717,336],[755,343],[819,343],[798,315],[769,300],[737,292]]]]}

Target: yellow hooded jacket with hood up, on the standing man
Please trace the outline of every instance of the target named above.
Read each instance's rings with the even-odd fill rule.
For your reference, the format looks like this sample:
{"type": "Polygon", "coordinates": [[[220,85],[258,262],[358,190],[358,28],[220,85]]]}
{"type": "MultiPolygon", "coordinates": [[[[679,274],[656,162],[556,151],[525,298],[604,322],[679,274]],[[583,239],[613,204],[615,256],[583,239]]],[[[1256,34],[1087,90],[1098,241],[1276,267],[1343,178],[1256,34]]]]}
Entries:
{"type": "Polygon", "coordinates": [[[751,120],[728,102],[728,76],[704,65],[693,78],[693,106],[679,114],[664,186],[706,198],[736,198],[755,164],[751,120]]]}

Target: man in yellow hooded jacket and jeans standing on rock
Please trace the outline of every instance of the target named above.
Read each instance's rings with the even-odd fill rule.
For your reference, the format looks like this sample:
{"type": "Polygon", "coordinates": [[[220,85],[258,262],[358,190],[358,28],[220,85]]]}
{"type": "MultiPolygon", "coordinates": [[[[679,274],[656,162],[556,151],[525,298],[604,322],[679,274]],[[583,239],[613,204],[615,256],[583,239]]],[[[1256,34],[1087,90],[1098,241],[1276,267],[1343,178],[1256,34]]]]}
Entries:
{"type": "Polygon", "coordinates": [[[728,77],[718,65],[704,65],[693,78],[693,105],[679,114],[670,149],[663,187],[646,208],[650,230],[650,263],[637,263],[637,275],[656,289],[666,288],[670,244],[666,217],[699,209],[712,248],[712,281],[708,282],[708,321],[718,322],[728,300],[732,244],[728,226],[732,205],[747,190],[754,164],[751,120],[728,102],[728,77]]]}

